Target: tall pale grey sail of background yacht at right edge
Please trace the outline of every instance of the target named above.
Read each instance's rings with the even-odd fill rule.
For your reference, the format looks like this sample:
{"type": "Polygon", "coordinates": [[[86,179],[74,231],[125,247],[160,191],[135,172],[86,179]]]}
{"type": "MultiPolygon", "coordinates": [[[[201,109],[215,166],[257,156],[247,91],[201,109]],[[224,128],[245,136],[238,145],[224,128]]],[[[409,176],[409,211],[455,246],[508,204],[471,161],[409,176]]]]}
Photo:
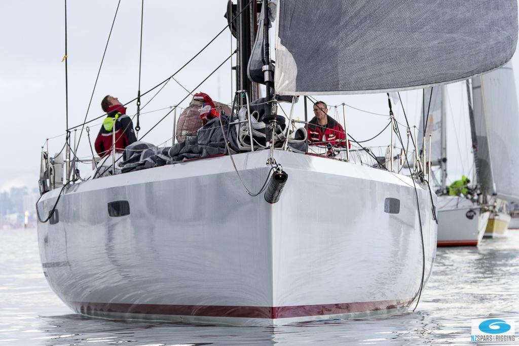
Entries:
{"type": "Polygon", "coordinates": [[[519,109],[512,64],[472,79],[483,192],[519,202],[519,109]]]}

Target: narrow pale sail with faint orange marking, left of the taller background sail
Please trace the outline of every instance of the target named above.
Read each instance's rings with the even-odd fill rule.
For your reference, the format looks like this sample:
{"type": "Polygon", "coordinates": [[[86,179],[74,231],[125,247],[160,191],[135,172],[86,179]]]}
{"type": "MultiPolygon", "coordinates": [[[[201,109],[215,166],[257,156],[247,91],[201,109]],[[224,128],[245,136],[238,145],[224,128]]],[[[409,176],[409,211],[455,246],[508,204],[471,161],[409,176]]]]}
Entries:
{"type": "MultiPolygon", "coordinates": [[[[427,153],[429,151],[429,135],[431,136],[431,164],[439,165],[442,159],[442,88],[434,87],[424,90],[424,103],[422,104],[425,110],[425,121],[427,123],[425,131],[425,144],[427,146],[427,153]],[[431,94],[432,89],[432,94],[431,94]],[[431,105],[429,106],[429,100],[431,105]],[[427,111],[429,110],[429,113],[427,111]]],[[[420,117],[421,118],[421,117],[420,117]]],[[[418,126],[418,150],[423,148],[424,143],[424,119],[420,119],[418,126]]],[[[426,156],[429,160],[429,156],[426,156]]]]}

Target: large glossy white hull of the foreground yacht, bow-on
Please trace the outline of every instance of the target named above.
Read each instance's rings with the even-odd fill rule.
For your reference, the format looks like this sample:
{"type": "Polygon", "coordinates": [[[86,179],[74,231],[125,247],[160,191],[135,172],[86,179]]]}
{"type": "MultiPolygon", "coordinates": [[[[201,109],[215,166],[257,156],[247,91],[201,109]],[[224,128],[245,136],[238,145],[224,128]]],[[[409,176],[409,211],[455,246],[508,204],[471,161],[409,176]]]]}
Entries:
{"type": "MultiPolygon", "coordinates": [[[[251,190],[265,181],[267,156],[235,156],[251,190]]],[[[73,186],[59,222],[38,224],[50,286],[78,313],[124,319],[279,325],[407,309],[424,263],[411,179],[275,157],[289,174],[275,204],[245,193],[229,157],[73,186]],[[385,212],[386,198],[400,200],[398,214],[385,212]],[[130,215],[108,216],[107,203],[119,200],[130,215]]],[[[427,281],[436,224],[429,191],[417,187],[427,281]]],[[[42,197],[40,215],[58,192],[42,197]]]]}

